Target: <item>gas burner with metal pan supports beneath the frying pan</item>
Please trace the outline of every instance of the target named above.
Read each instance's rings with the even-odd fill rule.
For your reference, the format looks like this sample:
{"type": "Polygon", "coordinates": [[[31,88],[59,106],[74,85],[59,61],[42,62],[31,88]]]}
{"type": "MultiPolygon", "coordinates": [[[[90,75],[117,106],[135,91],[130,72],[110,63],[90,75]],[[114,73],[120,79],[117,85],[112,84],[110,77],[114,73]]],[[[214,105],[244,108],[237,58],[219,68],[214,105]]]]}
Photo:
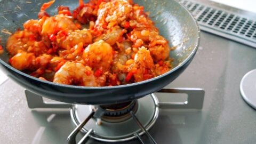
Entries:
{"type": "Polygon", "coordinates": [[[26,92],[29,108],[69,108],[76,129],[68,136],[68,143],[76,143],[76,135],[82,131],[83,143],[87,137],[102,142],[123,142],[146,134],[152,143],[156,143],[148,130],[155,124],[159,108],[202,109],[204,90],[202,89],[162,89],[159,93],[182,93],[187,95],[184,102],[159,102],[155,94],[138,100],[112,105],[70,105],[65,103],[47,103],[43,97],[30,91],[26,92]]]}

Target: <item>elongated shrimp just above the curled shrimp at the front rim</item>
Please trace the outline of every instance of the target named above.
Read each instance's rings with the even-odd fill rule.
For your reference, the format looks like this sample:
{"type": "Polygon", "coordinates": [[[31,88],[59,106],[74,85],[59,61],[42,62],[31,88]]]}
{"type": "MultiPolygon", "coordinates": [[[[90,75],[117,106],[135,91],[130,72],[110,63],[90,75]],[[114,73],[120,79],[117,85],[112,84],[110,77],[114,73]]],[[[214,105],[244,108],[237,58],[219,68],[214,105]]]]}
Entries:
{"type": "Polygon", "coordinates": [[[92,35],[89,30],[75,30],[68,34],[68,36],[62,40],[61,36],[57,35],[57,44],[59,47],[70,50],[75,45],[82,43],[83,46],[87,46],[92,43],[92,35]]]}

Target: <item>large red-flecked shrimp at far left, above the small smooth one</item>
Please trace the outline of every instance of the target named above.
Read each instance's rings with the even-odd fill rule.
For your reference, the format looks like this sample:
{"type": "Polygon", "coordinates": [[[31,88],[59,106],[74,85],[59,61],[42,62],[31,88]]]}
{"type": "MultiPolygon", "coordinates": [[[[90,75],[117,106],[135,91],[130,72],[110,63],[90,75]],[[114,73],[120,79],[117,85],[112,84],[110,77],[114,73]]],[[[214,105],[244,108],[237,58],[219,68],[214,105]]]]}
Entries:
{"type": "Polygon", "coordinates": [[[11,55],[15,55],[19,50],[33,52],[35,55],[45,53],[47,46],[43,41],[37,41],[36,35],[28,30],[16,31],[11,35],[6,44],[6,49],[11,55]]]}

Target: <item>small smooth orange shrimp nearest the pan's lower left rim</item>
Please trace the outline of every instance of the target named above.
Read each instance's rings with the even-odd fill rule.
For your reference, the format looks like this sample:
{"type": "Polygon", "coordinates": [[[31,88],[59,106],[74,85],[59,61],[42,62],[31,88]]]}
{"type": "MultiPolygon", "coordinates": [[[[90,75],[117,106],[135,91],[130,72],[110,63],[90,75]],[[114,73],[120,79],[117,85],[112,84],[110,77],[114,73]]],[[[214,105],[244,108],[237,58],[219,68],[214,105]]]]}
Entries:
{"type": "Polygon", "coordinates": [[[18,70],[25,70],[33,67],[33,62],[35,60],[34,53],[18,52],[15,54],[9,62],[11,65],[18,70]]]}

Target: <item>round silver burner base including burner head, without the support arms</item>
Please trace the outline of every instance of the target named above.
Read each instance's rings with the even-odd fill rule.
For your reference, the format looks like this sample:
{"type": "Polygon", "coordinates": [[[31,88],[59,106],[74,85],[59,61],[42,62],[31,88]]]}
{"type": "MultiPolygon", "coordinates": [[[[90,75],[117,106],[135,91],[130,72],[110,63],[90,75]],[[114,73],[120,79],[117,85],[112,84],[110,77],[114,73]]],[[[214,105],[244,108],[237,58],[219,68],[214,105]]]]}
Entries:
{"type": "Polygon", "coordinates": [[[159,108],[156,96],[151,94],[136,101],[118,105],[74,105],[70,113],[77,127],[91,115],[84,127],[81,127],[82,130],[80,129],[87,136],[103,142],[122,142],[137,138],[149,130],[156,122],[159,108]],[[91,115],[95,107],[98,109],[91,115]],[[132,115],[139,119],[145,130],[138,126],[138,119],[135,121],[132,115]],[[99,118],[102,119],[100,125],[97,124],[99,118]]]}

